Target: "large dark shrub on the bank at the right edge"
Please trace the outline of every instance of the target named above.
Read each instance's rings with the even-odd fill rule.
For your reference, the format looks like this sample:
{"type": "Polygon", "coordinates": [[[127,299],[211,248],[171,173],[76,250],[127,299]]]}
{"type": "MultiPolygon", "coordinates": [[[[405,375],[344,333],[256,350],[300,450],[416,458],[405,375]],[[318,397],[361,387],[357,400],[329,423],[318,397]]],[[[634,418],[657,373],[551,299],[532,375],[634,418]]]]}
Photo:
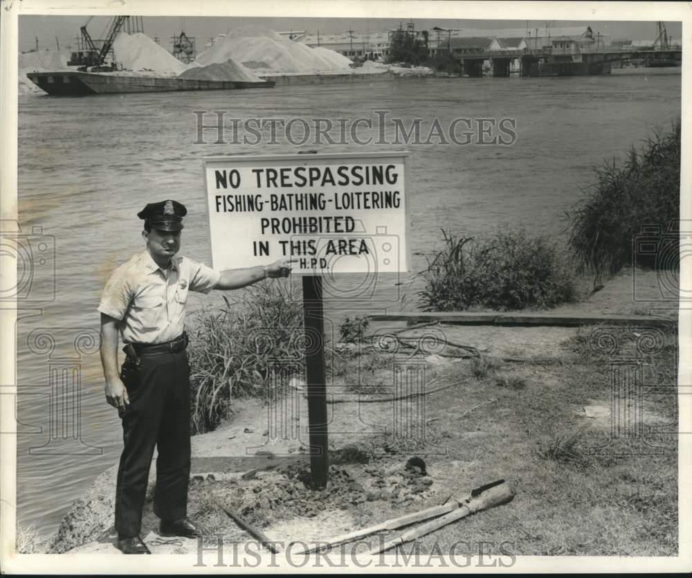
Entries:
{"type": "MultiPolygon", "coordinates": [[[[680,120],[670,132],[648,138],[641,152],[632,147],[622,165],[605,160],[594,173],[595,183],[583,191],[585,199],[566,216],[579,271],[592,273],[596,286],[604,276],[633,264],[632,241],[642,226],[679,222],[680,120]]],[[[672,251],[664,267],[676,268],[678,240],[673,235],[668,242],[670,246],[664,251],[659,247],[659,253],[672,251]]],[[[637,255],[637,264],[654,265],[645,259],[637,255]]]]}

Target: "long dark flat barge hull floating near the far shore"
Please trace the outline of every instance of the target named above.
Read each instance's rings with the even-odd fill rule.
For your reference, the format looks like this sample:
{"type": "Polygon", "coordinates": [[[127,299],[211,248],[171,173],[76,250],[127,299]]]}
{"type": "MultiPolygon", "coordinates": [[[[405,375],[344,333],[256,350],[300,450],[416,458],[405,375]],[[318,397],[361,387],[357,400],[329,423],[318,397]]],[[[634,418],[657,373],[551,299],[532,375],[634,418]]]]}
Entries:
{"type": "Polygon", "coordinates": [[[239,82],[235,80],[193,80],[156,76],[124,76],[112,73],[78,71],[30,72],[27,78],[52,96],[89,96],[131,92],[174,92],[197,90],[237,90],[273,88],[273,80],[239,82]]]}

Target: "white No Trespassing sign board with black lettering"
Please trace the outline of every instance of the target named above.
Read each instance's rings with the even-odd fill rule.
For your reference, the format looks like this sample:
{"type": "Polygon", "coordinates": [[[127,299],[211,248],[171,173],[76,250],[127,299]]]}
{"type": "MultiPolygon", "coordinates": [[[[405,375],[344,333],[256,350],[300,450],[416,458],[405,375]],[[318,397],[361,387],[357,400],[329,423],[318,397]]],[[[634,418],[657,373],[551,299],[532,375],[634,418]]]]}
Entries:
{"type": "Polygon", "coordinates": [[[294,258],[294,273],[410,271],[405,152],[204,159],[212,264],[294,258]]]}

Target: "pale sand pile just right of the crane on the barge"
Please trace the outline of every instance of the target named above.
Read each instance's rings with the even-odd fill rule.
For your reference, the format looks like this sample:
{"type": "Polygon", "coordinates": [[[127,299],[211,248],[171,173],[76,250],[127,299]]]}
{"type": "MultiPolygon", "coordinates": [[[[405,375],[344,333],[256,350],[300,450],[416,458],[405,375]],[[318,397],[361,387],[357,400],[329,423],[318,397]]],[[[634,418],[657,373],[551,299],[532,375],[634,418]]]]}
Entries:
{"type": "Polygon", "coordinates": [[[116,61],[131,71],[155,71],[161,75],[179,75],[190,68],[163,46],[142,33],[120,33],[113,42],[116,61]]]}

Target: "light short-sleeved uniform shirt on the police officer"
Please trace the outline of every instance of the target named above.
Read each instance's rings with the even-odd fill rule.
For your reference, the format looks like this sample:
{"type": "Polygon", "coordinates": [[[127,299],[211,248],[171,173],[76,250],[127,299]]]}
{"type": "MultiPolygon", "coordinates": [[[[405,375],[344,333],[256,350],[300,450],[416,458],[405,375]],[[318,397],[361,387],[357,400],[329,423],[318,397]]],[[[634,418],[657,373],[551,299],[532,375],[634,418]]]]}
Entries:
{"type": "Polygon", "coordinates": [[[183,333],[189,291],[208,293],[221,273],[186,257],[163,271],[148,251],[113,271],[98,310],[120,321],[124,343],[163,343],[183,333]]]}

